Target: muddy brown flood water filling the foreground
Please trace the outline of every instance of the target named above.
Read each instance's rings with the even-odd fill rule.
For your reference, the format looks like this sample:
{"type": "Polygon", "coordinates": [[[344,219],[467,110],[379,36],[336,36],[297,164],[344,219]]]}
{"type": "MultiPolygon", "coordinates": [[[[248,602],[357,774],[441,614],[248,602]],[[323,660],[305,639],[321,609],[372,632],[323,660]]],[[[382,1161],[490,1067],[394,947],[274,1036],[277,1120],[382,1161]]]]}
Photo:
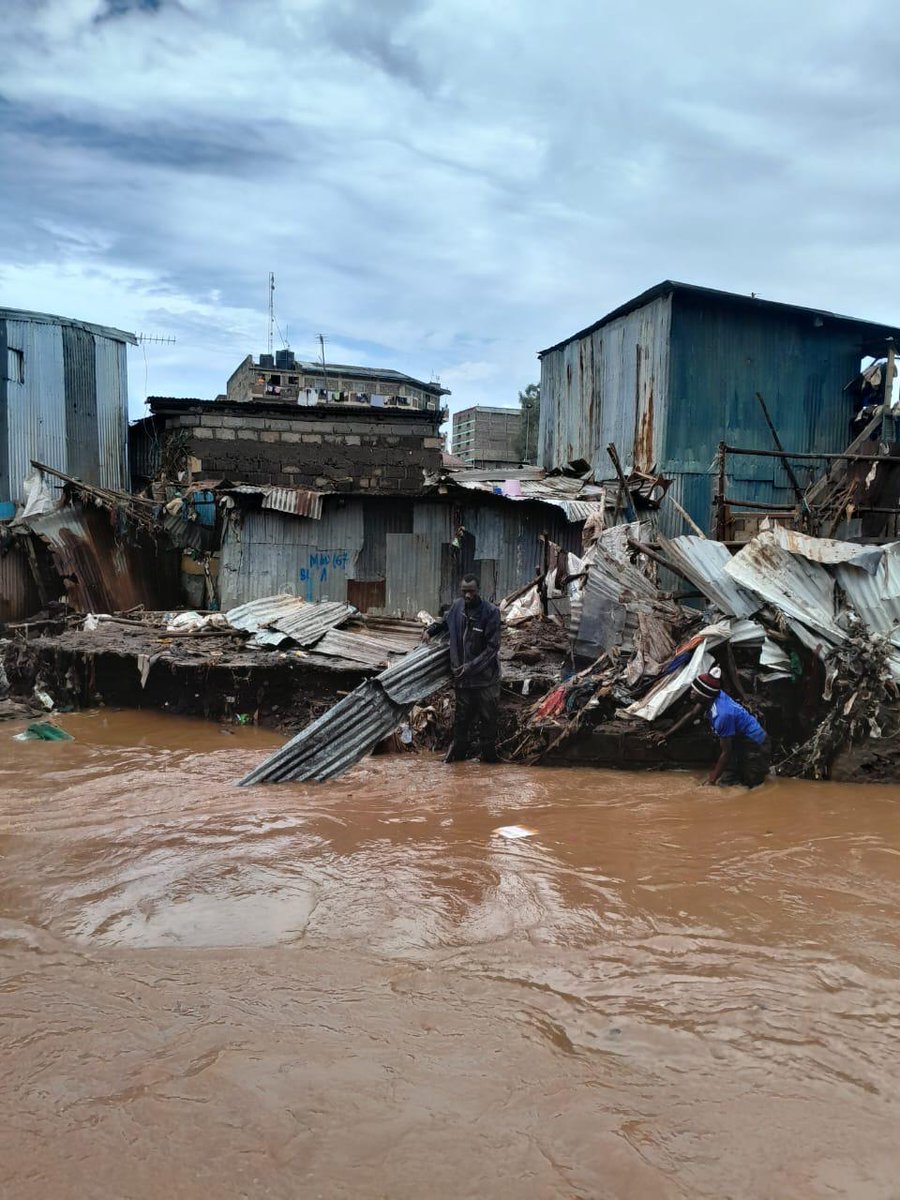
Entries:
{"type": "Polygon", "coordinates": [[[62,724],[0,731],[4,1198],[900,1196],[900,788],[62,724]]]}

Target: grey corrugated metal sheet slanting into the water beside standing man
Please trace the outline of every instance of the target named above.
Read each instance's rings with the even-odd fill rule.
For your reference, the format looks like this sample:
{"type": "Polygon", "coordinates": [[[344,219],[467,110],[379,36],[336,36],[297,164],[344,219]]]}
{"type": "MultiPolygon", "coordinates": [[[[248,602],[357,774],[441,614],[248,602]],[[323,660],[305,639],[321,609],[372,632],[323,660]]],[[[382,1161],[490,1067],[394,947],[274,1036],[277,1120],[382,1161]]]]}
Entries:
{"type": "Polygon", "coordinates": [[[446,643],[420,646],[307,725],[245,775],[240,786],[337,779],[396,730],[410,704],[449,680],[446,643]]]}

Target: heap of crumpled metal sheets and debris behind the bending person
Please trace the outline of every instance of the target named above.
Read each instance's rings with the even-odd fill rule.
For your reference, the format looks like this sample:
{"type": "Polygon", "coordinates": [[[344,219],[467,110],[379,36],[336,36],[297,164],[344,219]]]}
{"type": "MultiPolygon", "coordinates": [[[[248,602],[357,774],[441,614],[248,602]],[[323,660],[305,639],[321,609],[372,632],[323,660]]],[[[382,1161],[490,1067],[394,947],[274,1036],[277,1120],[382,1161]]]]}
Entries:
{"type": "MultiPolygon", "coordinates": [[[[522,714],[505,757],[553,761],[568,743],[568,761],[580,750],[584,761],[604,761],[626,733],[637,758],[652,762],[654,722],[682,707],[691,680],[713,664],[763,721],[779,774],[827,779],[847,746],[898,731],[900,544],[862,546],[773,526],[732,557],[702,536],[646,538],[636,523],[617,526],[586,551],[568,618],[574,668],[522,714]],[[706,607],[664,593],[660,568],[706,607]]],[[[536,595],[541,587],[552,590],[538,581],[536,595]]],[[[676,742],[656,763],[679,754],[676,742]]]]}

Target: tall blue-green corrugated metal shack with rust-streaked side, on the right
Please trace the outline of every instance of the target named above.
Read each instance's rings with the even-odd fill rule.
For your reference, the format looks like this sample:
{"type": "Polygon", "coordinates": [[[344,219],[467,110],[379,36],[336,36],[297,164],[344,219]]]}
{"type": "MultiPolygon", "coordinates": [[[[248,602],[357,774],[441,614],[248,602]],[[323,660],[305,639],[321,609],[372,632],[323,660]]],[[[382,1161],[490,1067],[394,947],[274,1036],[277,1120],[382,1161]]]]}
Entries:
{"type": "MultiPolygon", "coordinates": [[[[541,352],[541,466],[583,458],[608,479],[614,442],[626,470],[672,478],[671,494],[708,529],[718,444],[772,448],[756,394],[788,450],[838,452],[853,415],[845,386],[887,338],[900,329],[667,280],[541,352]]],[[[793,503],[776,460],[731,466],[730,494],[793,503]]],[[[682,532],[665,505],[660,522],[682,532]]]]}

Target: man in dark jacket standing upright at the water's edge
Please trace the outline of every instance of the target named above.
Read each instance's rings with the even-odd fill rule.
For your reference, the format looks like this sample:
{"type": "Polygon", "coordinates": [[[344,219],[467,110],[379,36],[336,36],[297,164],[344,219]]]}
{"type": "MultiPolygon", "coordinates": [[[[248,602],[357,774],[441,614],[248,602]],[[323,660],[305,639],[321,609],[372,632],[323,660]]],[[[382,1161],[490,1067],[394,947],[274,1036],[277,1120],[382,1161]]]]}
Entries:
{"type": "Polygon", "coordinates": [[[497,762],[500,703],[500,610],[479,595],[479,581],[466,575],[455,600],[426,637],[450,635],[450,667],[456,691],[454,740],[445,762],[468,757],[472,726],[481,726],[481,762],[497,762]]]}

